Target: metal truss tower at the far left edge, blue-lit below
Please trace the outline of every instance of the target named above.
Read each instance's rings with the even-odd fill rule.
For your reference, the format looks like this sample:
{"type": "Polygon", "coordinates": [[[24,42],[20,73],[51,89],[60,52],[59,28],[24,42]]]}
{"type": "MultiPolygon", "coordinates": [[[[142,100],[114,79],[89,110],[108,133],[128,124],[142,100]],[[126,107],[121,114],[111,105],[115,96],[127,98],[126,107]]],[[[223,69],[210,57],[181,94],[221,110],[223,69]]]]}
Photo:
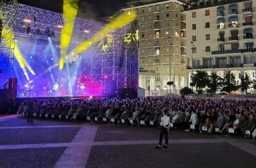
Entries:
{"type": "Polygon", "coordinates": [[[18,2],[16,0],[0,0],[0,84],[13,75],[14,45],[15,36],[10,36],[15,32],[15,23],[18,12],[18,2]],[[4,31],[2,31],[4,30],[4,31]]]}

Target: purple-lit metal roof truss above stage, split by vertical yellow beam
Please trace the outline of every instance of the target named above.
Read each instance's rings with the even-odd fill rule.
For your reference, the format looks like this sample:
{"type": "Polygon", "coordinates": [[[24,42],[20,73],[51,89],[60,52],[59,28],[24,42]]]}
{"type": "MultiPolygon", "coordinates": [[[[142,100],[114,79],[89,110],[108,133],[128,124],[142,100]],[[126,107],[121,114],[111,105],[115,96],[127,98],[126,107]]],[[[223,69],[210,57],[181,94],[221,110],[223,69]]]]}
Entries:
{"type": "MultiPolygon", "coordinates": [[[[15,33],[18,36],[39,36],[46,39],[50,36],[51,39],[58,41],[63,25],[63,17],[60,13],[20,4],[15,33]],[[48,30],[49,32],[47,32],[48,30]]],[[[83,41],[99,31],[104,25],[104,23],[94,20],[76,18],[72,36],[78,36],[83,41]],[[85,33],[85,30],[89,32],[85,33]]]]}

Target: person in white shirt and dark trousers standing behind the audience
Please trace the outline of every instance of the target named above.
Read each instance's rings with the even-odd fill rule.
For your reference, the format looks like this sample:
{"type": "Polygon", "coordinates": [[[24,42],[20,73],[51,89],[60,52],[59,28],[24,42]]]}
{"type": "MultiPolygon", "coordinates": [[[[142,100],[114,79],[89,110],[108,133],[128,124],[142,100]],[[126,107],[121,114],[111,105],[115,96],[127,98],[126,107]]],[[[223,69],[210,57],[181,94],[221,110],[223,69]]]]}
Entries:
{"type": "Polygon", "coordinates": [[[164,111],[163,115],[161,117],[161,122],[160,122],[160,136],[159,136],[159,144],[157,145],[156,148],[161,148],[162,146],[162,138],[164,137],[165,135],[165,145],[164,145],[164,148],[167,148],[167,145],[168,145],[168,132],[169,132],[169,129],[170,129],[170,117],[167,116],[167,110],[164,111]]]}

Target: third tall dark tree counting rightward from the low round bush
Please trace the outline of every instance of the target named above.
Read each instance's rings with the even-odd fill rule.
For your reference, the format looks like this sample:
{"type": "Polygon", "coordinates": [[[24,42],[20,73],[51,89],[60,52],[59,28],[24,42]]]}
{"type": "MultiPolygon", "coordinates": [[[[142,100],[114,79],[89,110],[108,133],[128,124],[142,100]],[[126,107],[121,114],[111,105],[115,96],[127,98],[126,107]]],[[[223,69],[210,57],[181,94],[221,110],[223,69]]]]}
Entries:
{"type": "Polygon", "coordinates": [[[229,94],[232,91],[236,91],[236,89],[238,89],[238,86],[236,83],[237,82],[234,74],[231,73],[230,71],[225,71],[224,78],[222,81],[222,84],[223,84],[222,91],[228,92],[229,94]]]}

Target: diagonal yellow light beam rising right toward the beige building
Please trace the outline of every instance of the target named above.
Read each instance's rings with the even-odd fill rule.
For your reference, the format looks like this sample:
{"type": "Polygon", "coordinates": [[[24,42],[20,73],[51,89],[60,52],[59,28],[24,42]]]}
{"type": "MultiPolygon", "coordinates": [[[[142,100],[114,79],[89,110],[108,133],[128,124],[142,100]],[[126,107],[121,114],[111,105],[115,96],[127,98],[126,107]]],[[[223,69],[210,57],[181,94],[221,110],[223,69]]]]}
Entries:
{"type": "Polygon", "coordinates": [[[136,18],[135,10],[130,10],[122,13],[120,16],[116,17],[108,25],[102,28],[101,31],[99,31],[97,34],[92,36],[91,39],[89,39],[88,41],[84,41],[78,47],[73,49],[72,52],[69,52],[69,54],[67,55],[67,58],[69,59],[69,57],[72,57],[72,55],[79,55],[81,52],[91,47],[91,45],[104,39],[105,36],[108,35],[108,33],[110,33],[111,31],[124,27],[124,25],[131,23],[133,20],[135,20],[135,18],[136,18]]]}

